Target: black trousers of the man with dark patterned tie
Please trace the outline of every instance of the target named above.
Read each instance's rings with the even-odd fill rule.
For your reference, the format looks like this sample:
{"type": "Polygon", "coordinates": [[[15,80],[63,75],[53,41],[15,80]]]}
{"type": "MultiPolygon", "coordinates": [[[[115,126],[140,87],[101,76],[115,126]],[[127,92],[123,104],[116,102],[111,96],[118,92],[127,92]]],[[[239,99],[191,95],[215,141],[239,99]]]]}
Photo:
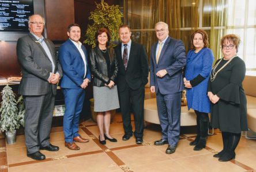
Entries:
{"type": "Polygon", "coordinates": [[[125,90],[119,92],[120,107],[123,119],[123,129],[126,134],[133,133],[131,127],[131,108],[134,114],[135,138],[142,138],[144,130],[144,97],[145,88],[141,87],[136,90],[131,90],[126,86],[125,90]]]}

